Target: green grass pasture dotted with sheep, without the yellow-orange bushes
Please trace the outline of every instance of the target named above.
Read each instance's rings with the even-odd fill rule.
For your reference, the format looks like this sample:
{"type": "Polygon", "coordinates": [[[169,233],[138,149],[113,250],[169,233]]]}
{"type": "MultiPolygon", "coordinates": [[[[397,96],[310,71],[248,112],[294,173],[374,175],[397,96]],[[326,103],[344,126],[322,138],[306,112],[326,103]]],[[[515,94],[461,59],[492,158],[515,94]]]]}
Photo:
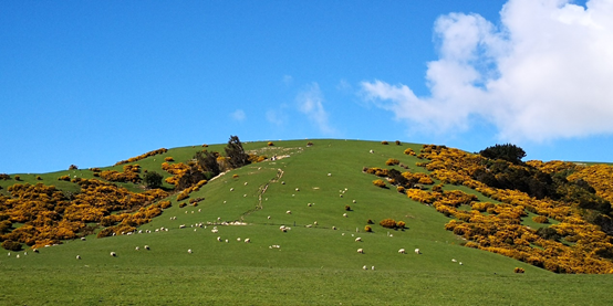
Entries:
{"type": "MultiPolygon", "coordinates": [[[[422,145],[313,143],[310,147],[306,140],[243,144],[247,151],[277,159],[210,180],[189,194],[205,199],[197,207],[179,208],[187,200],[170,196],[172,205],[134,234],[96,239],[94,233],[38,253],[0,256],[0,304],[605,305],[613,298],[611,275],[554,274],[463,246],[463,238],[445,230],[449,217],[391,184],[374,186],[376,177],[363,172],[364,167],[406,171],[386,166],[388,158],[412,172],[428,172],[416,166],[424,160],[404,154],[406,148],[418,152],[422,145]],[[405,221],[406,228],[381,226],[378,222],[387,218],[405,221]],[[365,232],[370,219],[373,232],[365,232]],[[291,230],[282,232],[281,225],[291,230]],[[526,273],[513,273],[516,267],[526,273]]],[[[201,149],[174,148],[131,163],[164,173],[165,157],[187,162],[201,149]]],[[[108,169],[121,171],[122,166],[102,170],[108,169]]],[[[90,170],[18,176],[19,183],[42,182],[72,192],[79,192],[79,184],[58,177],[94,178],[90,170]]],[[[0,192],[8,194],[14,183],[0,180],[0,192]]],[[[121,186],[143,191],[134,183],[121,186]]],[[[445,189],[488,200],[463,186],[445,189]]]]}

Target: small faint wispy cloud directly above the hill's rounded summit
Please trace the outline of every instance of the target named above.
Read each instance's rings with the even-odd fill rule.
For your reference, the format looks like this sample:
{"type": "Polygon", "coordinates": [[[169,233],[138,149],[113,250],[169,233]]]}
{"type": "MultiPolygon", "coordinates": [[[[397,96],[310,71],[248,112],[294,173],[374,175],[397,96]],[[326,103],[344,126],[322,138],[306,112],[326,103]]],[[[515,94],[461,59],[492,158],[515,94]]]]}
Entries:
{"type": "Polygon", "coordinates": [[[320,131],[324,134],[335,134],[328,122],[328,113],[323,108],[323,94],[318,83],[312,83],[300,92],[295,98],[298,109],[306,115],[315,124],[320,131]]]}

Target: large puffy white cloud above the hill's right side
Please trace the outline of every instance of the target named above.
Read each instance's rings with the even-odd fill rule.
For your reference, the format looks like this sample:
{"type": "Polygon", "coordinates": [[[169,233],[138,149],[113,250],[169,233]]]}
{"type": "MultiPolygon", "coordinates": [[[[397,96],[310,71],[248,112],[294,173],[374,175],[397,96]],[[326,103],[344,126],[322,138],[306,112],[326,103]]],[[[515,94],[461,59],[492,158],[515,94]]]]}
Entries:
{"type": "Polygon", "coordinates": [[[427,65],[430,94],[362,82],[364,97],[411,126],[469,129],[475,116],[505,140],[613,134],[613,1],[510,0],[497,29],[478,14],[435,23],[439,59],[427,65]]]}

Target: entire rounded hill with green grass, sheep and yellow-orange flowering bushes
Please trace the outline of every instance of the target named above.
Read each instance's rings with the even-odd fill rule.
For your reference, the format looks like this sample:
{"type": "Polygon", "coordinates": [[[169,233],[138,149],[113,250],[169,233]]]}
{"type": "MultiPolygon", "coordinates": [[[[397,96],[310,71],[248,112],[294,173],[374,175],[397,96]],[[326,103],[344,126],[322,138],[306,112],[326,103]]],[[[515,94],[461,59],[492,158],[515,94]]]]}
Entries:
{"type": "MultiPolygon", "coordinates": [[[[190,282],[218,282],[211,286],[248,292],[245,297],[232,289],[216,292],[217,297],[208,292],[206,300],[256,304],[370,304],[384,296],[401,303],[408,288],[415,291],[413,304],[420,304],[415,298],[432,296],[433,289],[453,294],[447,286],[470,293],[454,300],[470,300],[478,295],[470,288],[484,279],[491,283],[484,288],[496,293],[490,303],[530,289],[533,296],[528,295],[526,304],[539,300],[542,296],[522,283],[531,279],[543,291],[565,291],[548,296],[551,302],[572,296],[599,304],[604,300],[599,288],[611,284],[610,278],[585,276],[578,285],[576,278],[552,273],[613,273],[607,228],[611,166],[513,163],[402,141],[313,139],[242,147],[249,161],[238,167],[240,161],[228,156],[228,146],[218,144],[159,149],[100,169],[74,166],[53,173],[4,177],[2,241],[19,243],[23,250],[15,246],[10,256],[0,257],[0,265],[28,282],[34,282],[32,272],[54,271],[80,284],[86,281],[76,274],[100,274],[102,278],[94,278],[100,288],[89,289],[94,295],[115,288],[114,277],[136,286],[152,274],[168,282],[175,271],[181,277],[174,282],[181,288],[190,288],[190,282]],[[152,172],[160,175],[159,188],[145,188],[144,178],[152,172]],[[206,281],[187,276],[190,270],[206,281]],[[231,282],[226,273],[247,283],[261,282],[267,289],[231,282]],[[389,278],[382,279],[381,273],[389,278]],[[292,274],[302,281],[292,279],[292,274]],[[362,283],[347,283],[343,275],[362,283]],[[324,276],[339,287],[318,281],[324,276]],[[278,277],[326,296],[279,296],[271,286],[285,294],[290,288],[278,284],[278,277]],[[500,287],[505,279],[512,285],[500,287]],[[389,282],[398,282],[403,289],[391,293],[389,282]],[[418,289],[420,282],[432,288],[418,289]],[[373,291],[376,298],[337,294],[339,288],[352,286],[373,291]],[[262,289],[274,298],[267,300],[262,294],[260,299],[257,292],[262,289]]],[[[61,282],[44,278],[51,285],[61,282]]],[[[172,288],[155,287],[159,299],[154,304],[164,304],[165,295],[179,304],[202,300],[184,300],[172,288]]],[[[75,294],[70,287],[62,291],[51,302],[75,294]]],[[[17,286],[8,292],[6,303],[19,297],[17,286]]],[[[34,296],[34,302],[45,300],[44,294],[34,296]]],[[[445,300],[441,295],[433,303],[445,300]]]]}

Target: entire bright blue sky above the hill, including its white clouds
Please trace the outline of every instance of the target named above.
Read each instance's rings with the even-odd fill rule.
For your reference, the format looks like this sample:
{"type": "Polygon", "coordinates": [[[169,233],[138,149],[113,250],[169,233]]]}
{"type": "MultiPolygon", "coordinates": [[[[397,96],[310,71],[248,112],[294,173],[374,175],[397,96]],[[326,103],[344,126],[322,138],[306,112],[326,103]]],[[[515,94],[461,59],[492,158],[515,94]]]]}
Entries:
{"type": "Polygon", "coordinates": [[[613,161],[613,1],[2,1],[0,172],[303,138],[613,161]]]}

